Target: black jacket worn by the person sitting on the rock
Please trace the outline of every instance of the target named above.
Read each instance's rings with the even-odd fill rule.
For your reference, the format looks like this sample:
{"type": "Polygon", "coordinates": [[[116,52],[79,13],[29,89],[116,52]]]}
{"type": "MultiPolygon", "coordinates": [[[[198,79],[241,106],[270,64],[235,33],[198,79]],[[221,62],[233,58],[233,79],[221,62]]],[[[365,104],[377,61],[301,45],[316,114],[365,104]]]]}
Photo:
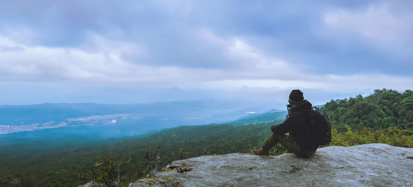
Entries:
{"type": "Polygon", "coordinates": [[[297,105],[294,105],[288,110],[286,121],[279,125],[273,125],[271,131],[274,134],[290,133],[293,136],[297,144],[304,151],[317,149],[318,145],[315,145],[311,140],[310,129],[308,129],[308,111],[310,111],[312,105],[307,100],[301,101],[297,105]]]}

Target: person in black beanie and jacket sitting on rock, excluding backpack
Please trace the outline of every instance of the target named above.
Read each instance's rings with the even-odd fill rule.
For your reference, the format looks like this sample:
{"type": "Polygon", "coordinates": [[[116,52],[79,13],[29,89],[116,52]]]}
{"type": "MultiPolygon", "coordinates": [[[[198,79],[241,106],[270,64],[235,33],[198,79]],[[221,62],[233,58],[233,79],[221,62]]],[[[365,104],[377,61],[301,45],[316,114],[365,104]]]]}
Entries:
{"type": "Polygon", "coordinates": [[[303,92],[293,90],[288,99],[288,115],[284,123],[271,127],[271,136],[264,142],[261,149],[253,149],[255,155],[269,155],[272,147],[281,143],[286,147],[288,153],[302,158],[309,158],[317,150],[318,145],[311,140],[310,129],[308,129],[307,112],[312,105],[304,99],[303,92]],[[286,135],[288,132],[289,135],[286,135]]]}

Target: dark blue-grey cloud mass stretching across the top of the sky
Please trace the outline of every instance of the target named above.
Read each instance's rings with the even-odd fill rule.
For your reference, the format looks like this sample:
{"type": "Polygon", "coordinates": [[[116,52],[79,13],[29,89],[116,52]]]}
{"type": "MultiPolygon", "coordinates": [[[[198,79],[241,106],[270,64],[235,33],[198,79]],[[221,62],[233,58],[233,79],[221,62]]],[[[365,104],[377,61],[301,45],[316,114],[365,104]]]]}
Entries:
{"type": "MultiPolygon", "coordinates": [[[[307,64],[308,71],[317,73],[409,75],[411,40],[402,46],[394,42],[385,47],[369,45],[366,41],[377,40],[374,31],[379,29],[368,29],[365,33],[373,31],[376,37],[369,38],[360,35],[359,29],[350,31],[334,23],[328,26],[324,18],[324,10],[331,7],[335,9],[327,13],[336,21],[353,18],[353,14],[368,17],[363,15],[372,7],[374,16],[388,12],[380,18],[391,25],[394,18],[412,17],[408,11],[412,6],[398,2],[381,8],[373,4],[377,1],[5,1],[0,7],[0,34],[23,45],[79,50],[87,45],[96,47],[91,38],[98,36],[114,42],[112,49],[130,45],[119,57],[134,64],[225,71],[238,68],[238,60],[226,51],[228,43],[238,38],[272,57],[294,65],[307,64]],[[399,10],[404,10],[403,14],[399,10]],[[335,14],[340,11],[345,14],[335,14]],[[213,42],[202,29],[229,41],[213,42]],[[390,62],[403,66],[394,68],[390,62]],[[371,66],[373,63],[379,66],[371,66]]],[[[365,20],[370,22],[368,18],[365,20]]],[[[373,26],[380,26],[373,21],[373,26]]]]}

